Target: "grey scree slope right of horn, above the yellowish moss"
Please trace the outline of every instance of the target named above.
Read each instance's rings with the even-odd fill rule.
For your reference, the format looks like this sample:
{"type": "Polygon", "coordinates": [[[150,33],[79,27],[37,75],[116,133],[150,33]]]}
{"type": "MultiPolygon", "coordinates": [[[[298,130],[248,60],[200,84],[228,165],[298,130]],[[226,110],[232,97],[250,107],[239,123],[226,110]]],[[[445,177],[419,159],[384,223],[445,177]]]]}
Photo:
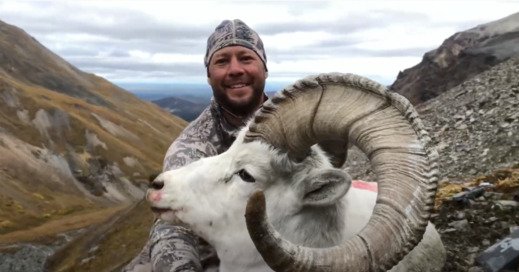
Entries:
{"type": "Polygon", "coordinates": [[[519,58],[417,107],[440,154],[442,179],[519,163],[519,58]]]}

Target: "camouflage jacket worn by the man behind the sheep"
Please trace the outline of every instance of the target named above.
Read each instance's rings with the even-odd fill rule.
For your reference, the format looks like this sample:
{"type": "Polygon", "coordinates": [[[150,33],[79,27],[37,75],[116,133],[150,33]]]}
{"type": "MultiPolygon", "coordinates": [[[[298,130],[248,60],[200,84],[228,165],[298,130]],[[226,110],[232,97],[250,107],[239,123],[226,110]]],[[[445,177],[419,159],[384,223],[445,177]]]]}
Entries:
{"type": "MultiPolygon", "coordinates": [[[[172,170],[200,158],[218,155],[231,146],[239,132],[222,118],[214,100],[171,144],[163,170],[172,170]]],[[[148,243],[123,271],[218,271],[216,251],[189,229],[157,220],[148,243]]]]}

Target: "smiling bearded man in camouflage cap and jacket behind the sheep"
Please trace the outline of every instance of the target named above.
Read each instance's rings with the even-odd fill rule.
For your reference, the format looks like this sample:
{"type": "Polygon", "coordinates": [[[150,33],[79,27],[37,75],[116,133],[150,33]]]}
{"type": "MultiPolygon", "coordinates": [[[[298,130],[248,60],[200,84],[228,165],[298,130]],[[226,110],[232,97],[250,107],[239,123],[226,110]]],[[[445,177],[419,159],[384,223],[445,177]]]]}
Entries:
{"type": "MultiPolygon", "coordinates": [[[[263,42],[241,20],[225,20],[216,27],[207,39],[204,63],[213,99],[169,147],[163,171],[227,150],[267,99],[263,42]]],[[[142,252],[123,271],[216,271],[214,249],[198,240],[181,223],[158,220],[142,252]]]]}

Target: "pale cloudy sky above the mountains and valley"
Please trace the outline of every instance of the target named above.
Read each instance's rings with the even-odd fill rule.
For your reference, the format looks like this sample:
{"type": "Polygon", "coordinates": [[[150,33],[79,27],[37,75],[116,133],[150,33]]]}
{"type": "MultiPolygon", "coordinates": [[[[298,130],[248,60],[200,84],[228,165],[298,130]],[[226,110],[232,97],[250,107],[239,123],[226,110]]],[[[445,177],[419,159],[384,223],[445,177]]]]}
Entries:
{"type": "Polygon", "coordinates": [[[263,39],[271,82],[336,71],[391,84],[454,33],[518,11],[497,0],[0,0],[0,20],[115,83],[206,82],[207,37],[240,18],[263,39]]]}

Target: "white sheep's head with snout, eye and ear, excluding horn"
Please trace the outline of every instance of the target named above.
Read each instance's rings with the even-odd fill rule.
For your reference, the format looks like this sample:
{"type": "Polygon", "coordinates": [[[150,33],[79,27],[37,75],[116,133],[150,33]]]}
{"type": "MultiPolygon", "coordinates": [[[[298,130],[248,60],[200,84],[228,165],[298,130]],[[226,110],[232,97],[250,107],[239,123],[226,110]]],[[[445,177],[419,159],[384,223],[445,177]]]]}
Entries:
{"type": "MultiPolygon", "coordinates": [[[[315,214],[322,215],[326,209],[334,212],[332,207],[347,193],[351,178],[333,168],[317,147],[295,162],[264,142],[244,142],[246,131],[226,152],[159,175],[148,192],[154,209],[162,211],[165,220],[187,224],[215,246],[219,255],[227,251],[223,248],[250,248],[251,255],[257,255],[243,215],[249,197],[262,190],[269,199],[267,210],[273,224],[291,241],[323,247],[340,240],[340,224],[323,228],[320,223],[312,233],[296,230],[308,225],[315,214]]],[[[340,222],[342,215],[334,215],[340,222]]]]}

